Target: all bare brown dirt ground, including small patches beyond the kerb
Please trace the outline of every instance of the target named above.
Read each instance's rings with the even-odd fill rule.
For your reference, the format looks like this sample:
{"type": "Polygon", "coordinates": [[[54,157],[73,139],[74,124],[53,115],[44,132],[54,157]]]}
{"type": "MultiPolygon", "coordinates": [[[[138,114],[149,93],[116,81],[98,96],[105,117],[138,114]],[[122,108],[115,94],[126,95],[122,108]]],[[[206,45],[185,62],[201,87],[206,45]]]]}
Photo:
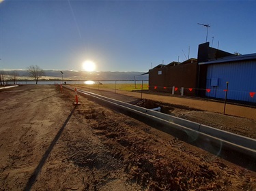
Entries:
{"type": "MultiPolygon", "coordinates": [[[[53,85],[0,90],[0,190],[256,190],[255,171],[79,101],[74,106],[74,92],[53,85]]],[[[195,119],[208,114],[169,111],[195,119]]]]}

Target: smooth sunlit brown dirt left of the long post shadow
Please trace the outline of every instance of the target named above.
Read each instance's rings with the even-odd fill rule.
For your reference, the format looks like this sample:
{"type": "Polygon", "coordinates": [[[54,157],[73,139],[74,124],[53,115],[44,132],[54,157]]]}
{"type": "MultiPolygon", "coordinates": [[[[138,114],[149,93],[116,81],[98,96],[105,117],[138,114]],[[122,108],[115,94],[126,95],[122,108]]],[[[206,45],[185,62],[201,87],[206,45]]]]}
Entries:
{"type": "Polygon", "coordinates": [[[52,86],[19,86],[0,92],[0,190],[24,189],[57,129],[60,96],[52,86]]]}

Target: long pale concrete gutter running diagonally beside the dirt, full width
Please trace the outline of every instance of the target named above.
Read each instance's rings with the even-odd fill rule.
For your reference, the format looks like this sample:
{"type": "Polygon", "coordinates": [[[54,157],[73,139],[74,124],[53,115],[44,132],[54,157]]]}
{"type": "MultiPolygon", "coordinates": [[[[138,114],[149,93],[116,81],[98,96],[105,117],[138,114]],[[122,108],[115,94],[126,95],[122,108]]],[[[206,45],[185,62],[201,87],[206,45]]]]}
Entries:
{"type": "MultiPolygon", "coordinates": [[[[67,86],[64,87],[68,88],[67,86]]],[[[69,89],[73,90],[73,88],[69,89]]],[[[122,101],[103,97],[92,92],[84,90],[77,90],[77,92],[94,99],[102,105],[111,107],[111,109],[118,110],[124,114],[128,114],[129,116],[150,124],[150,126],[153,126],[160,131],[179,137],[183,141],[201,147],[203,150],[207,150],[208,152],[212,152],[217,156],[229,155],[231,151],[242,154],[243,160],[248,158],[248,160],[254,162],[253,168],[255,168],[256,171],[255,139],[222,131],[218,128],[191,122],[175,116],[162,114],[158,111],[152,111],[130,103],[124,103],[122,101]]]]}

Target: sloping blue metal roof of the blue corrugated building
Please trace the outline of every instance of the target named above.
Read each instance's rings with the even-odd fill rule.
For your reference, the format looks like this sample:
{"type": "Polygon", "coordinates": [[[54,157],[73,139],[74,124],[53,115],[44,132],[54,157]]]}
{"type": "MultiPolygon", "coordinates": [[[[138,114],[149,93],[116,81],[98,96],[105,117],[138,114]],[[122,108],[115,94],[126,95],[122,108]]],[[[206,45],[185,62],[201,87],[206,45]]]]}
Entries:
{"type": "Polygon", "coordinates": [[[218,63],[230,63],[230,62],[238,62],[242,60],[256,60],[256,53],[254,54],[244,54],[240,56],[226,56],[223,58],[219,58],[217,60],[212,60],[209,62],[199,63],[199,65],[210,65],[210,64],[218,64],[218,63]]]}

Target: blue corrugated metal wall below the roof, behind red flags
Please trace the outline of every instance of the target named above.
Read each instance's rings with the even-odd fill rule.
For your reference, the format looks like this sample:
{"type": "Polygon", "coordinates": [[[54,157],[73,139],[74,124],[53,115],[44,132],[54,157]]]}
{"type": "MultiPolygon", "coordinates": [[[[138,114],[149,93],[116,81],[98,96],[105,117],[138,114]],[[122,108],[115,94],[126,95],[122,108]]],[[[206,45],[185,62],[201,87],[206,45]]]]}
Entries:
{"type": "Polygon", "coordinates": [[[208,66],[206,88],[207,97],[225,98],[226,85],[229,82],[227,99],[256,103],[250,92],[256,92],[256,61],[236,63],[218,63],[208,66]],[[211,80],[218,78],[218,86],[211,86],[211,80]]]}

